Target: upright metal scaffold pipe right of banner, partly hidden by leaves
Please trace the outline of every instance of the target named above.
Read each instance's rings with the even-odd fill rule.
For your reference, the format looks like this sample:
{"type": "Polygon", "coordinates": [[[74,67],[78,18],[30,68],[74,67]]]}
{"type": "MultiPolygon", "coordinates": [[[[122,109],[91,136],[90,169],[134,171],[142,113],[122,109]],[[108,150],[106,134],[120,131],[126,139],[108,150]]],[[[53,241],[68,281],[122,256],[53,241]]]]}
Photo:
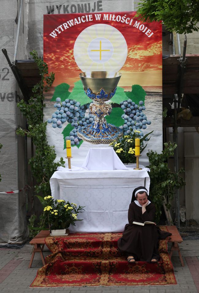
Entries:
{"type": "MultiPolygon", "coordinates": [[[[174,169],[175,173],[179,171],[178,165],[178,125],[177,125],[177,97],[178,95],[174,95],[174,142],[177,144],[177,147],[174,150],[174,169]]],[[[175,225],[177,228],[180,228],[180,201],[179,201],[179,189],[175,189],[175,225]]]]}

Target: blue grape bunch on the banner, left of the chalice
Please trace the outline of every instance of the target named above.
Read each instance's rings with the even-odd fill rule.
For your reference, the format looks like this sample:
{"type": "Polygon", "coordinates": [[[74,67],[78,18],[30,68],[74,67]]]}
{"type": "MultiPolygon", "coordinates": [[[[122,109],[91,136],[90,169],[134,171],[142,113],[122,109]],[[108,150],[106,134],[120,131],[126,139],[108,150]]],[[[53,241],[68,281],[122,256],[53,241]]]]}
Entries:
{"type": "Polygon", "coordinates": [[[54,104],[55,111],[52,114],[52,118],[49,118],[47,121],[52,123],[53,128],[62,128],[62,124],[66,121],[71,123],[74,128],[66,139],[71,141],[71,145],[79,145],[81,138],[77,136],[77,129],[92,123],[95,119],[93,114],[85,114],[89,106],[90,104],[80,106],[80,102],[69,99],[61,102],[61,98],[56,98],[54,104]]]}

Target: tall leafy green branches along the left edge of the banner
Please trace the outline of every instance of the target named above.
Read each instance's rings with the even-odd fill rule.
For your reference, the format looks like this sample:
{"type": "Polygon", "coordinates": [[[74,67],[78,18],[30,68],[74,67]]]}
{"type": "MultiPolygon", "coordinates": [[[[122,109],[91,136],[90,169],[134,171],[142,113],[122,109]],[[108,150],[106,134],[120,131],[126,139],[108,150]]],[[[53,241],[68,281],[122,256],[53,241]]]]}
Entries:
{"type": "Polygon", "coordinates": [[[41,81],[37,83],[32,92],[33,96],[26,103],[23,99],[17,104],[20,111],[27,119],[28,129],[17,129],[17,134],[21,136],[27,135],[31,137],[36,147],[35,155],[29,160],[32,175],[37,182],[35,186],[36,193],[42,192],[45,196],[51,194],[49,180],[58,166],[62,166],[65,162],[61,157],[58,162],[54,146],[48,145],[46,136],[47,122],[43,122],[43,91],[48,91],[54,81],[54,73],[48,74],[47,64],[38,57],[36,51],[30,53],[41,75],[41,81]]]}

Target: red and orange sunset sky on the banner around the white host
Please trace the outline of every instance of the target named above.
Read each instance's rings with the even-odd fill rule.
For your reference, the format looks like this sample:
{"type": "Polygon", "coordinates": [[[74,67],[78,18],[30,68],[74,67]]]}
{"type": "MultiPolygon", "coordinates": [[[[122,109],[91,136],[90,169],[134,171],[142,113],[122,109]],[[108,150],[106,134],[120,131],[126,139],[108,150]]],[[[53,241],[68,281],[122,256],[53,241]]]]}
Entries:
{"type": "MultiPolygon", "coordinates": [[[[100,13],[101,19],[96,20],[96,13],[92,13],[92,21],[76,24],[60,33],[53,38],[50,34],[59,25],[67,21],[81,17],[82,13],[74,14],[55,14],[44,15],[43,27],[43,50],[44,60],[48,64],[49,71],[55,73],[55,81],[53,86],[60,83],[73,83],[79,80],[81,70],[77,66],[73,47],[78,35],[87,27],[96,24],[107,24],[115,27],[122,33],[126,40],[128,53],[126,62],[119,70],[122,73],[119,86],[131,86],[132,84],[140,84],[141,86],[162,86],[162,25],[160,22],[144,23],[133,18],[136,12],[109,12],[100,13]],[[103,20],[104,14],[115,14],[133,19],[132,25],[121,23],[121,21],[103,20]],[[139,27],[133,27],[135,21],[140,22],[153,33],[148,37],[139,27]]],[[[147,29],[145,30],[145,32],[147,29]]],[[[56,32],[56,31],[55,31],[56,32]]],[[[149,35],[149,33],[148,33],[149,35]]]]}

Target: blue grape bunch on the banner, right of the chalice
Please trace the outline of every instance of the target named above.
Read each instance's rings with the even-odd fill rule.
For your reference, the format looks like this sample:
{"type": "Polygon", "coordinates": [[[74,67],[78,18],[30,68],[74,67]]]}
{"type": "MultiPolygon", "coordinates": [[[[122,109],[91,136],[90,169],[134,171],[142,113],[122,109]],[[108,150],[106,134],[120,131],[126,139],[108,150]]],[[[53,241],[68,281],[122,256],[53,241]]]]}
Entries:
{"type": "Polygon", "coordinates": [[[143,104],[144,102],[140,101],[137,105],[131,99],[120,102],[121,108],[124,110],[124,114],[122,114],[124,124],[120,128],[125,135],[129,135],[131,132],[133,133],[138,130],[140,131],[139,135],[143,136],[144,134],[141,129],[146,129],[147,125],[151,124],[151,121],[147,120],[146,115],[142,112],[145,110],[143,104]]]}

